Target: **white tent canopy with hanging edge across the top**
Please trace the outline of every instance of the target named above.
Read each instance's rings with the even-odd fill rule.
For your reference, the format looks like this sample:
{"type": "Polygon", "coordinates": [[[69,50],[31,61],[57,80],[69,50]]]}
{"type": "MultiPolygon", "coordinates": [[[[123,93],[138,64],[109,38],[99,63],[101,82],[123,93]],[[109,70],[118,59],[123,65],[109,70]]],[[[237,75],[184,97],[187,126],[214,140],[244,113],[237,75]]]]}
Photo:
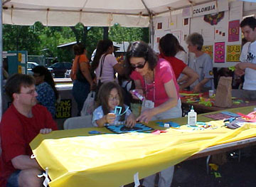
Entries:
{"type": "Polygon", "coordinates": [[[6,0],[3,23],[45,26],[147,27],[150,16],[203,4],[208,0],[6,0]]]}

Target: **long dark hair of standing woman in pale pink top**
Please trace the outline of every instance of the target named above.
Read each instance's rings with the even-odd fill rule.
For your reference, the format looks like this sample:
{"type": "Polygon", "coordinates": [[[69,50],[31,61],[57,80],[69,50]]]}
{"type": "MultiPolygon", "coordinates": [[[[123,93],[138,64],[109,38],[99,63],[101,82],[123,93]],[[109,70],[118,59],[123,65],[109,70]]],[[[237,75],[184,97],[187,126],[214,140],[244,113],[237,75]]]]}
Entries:
{"type": "Polygon", "coordinates": [[[107,53],[107,50],[113,46],[113,42],[110,40],[102,40],[97,43],[97,50],[95,58],[92,60],[92,71],[95,71],[100,63],[100,58],[104,53],[107,53]]]}

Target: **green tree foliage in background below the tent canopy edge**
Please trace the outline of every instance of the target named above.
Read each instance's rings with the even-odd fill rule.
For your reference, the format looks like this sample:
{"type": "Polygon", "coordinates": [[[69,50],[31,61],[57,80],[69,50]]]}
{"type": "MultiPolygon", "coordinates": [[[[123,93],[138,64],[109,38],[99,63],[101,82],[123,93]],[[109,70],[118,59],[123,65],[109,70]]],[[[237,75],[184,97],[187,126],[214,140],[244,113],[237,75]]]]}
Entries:
{"type": "MultiPolygon", "coordinates": [[[[105,28],[106,31],[107,28],[105,28]]],[[[109,29],[108,37],[118,43],[122,41],[149,41],[148,28],[124,28],[114,24],[109,29]]],[[[103,39],[102,27],[88,27],[78,23],[72,27],[43,26],[36,22],[33,26],[3,25],[4,50],[27,50],[28,55],[58,57],[59,61],[72,61],[72,48],[57,46],[73,41],[81,42],[90,58],[97,42],[103,39]]]]}

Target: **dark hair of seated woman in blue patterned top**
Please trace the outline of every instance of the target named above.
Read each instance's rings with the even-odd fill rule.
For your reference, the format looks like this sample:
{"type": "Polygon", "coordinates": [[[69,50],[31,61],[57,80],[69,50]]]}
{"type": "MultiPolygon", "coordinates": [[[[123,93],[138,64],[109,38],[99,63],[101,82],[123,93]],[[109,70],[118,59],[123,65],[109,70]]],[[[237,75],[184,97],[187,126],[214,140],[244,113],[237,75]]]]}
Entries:
{"type": "Polygon", "coordinates": [[[58,99],[58,91],[55,88],[55,82],[53,80],[53,76],[51,75],[50,71],[44,67],[43,65],[37,65],[35,68],[32,69],[33,73],[39,73],[39,75],[44,75],[44,81],[47,82],[50,87],[53,88],[53,92],[55,94],[56,100],[58,99]]]}

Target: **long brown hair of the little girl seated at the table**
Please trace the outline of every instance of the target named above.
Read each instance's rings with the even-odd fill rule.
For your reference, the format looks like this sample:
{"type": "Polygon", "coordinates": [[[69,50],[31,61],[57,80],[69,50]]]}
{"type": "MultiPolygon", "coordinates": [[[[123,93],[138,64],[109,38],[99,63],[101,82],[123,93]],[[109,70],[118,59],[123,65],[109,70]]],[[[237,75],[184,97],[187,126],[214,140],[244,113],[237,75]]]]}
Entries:
{"type": "MultiPolygon", "coordinates": [[[[110,107],[108,106],[108,101],[110,98],[110,92],[112,89],[116,88],[118,95],[119,95],[119,107],[122,107],[122,112],[125,111],[124,107],[124,98],[122,95],[122,89],[121,87],[116,83],[116,82],[105,82],[103,85],[101,85],[99,94],[97,97],[97,103],[96,107],[99,107],[100,105],[102,106],[103,114],[108,114],[110,113],[110,107]]],[[[125,119],[125,114],[122,114],[122,117],[120,118],[120,121],[124,121],[125,119]]]]}

